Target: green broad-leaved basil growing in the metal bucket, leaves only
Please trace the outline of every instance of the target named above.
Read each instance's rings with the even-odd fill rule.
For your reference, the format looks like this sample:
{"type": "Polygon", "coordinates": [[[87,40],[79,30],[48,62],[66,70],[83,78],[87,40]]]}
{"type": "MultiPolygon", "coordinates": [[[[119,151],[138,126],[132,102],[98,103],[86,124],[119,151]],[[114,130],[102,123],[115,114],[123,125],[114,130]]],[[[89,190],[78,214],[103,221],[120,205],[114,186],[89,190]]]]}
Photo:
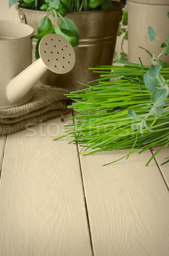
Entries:
{"type": "Polygon", "coordinates": [[[32,38],[38,39],[35,51],[36,58],[40,58],[38,50],[40,40],[47,34],[56,33],[61,35],[72,44],[72,47],[78,47],[79,31],[72,20],[64,18],[66,11],[81,12],[115,8],[110,0],[9,0],[9,7],[17,2],[23,8],[48,12],[40,21],[38,35],[32,36],[32,38]],[[49,19],[50,12],[56,17],[54,28],[52,28],[52,22],[49,19]],[[60,26],[57,25],[58,16],[62,19],[60,26]]]}

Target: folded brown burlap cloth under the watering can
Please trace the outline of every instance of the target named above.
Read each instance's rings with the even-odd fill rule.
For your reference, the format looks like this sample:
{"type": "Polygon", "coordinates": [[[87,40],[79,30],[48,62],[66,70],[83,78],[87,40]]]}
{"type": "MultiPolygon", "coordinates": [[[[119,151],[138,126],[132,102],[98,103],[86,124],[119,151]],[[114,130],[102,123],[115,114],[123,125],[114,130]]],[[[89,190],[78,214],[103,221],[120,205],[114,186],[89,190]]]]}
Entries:
{"type": "Polygon", "coordinates": [[[0,135],[11,134],[27,125],[44,122],[47,119],[65,115],[70,100],[65,89],[35,84],[32,99],[24,105],[0,109],[0,135]]]}

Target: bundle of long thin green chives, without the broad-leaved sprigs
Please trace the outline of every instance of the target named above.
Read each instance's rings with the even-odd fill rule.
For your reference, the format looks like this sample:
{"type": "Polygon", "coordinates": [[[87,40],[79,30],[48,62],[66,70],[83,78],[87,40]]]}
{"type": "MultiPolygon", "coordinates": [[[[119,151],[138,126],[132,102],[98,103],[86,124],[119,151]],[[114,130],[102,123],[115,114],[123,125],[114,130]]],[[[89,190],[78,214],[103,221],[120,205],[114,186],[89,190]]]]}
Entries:
{"type": "MultiPolygon", "coordinates": [[[[162,115],[159,118],[150,115],[146,120],[153,131],[146,128],[142,133],[133,130],[131,125],[135,120],[127,115],[127,111],[132,109],[140,118],[144,118],[149,113],[147,104],[152,103],[151,92],[143,82],[143,76],[150,67],[124,61],[120,63],[124,65],[92,68],[94,72],[102,73],[95,85],[87,84],[87,88],[67,95],[74,100],[69,108],[78,113],[72,117],[74,124],[65,125],[69,129],[65,136],[74,137],[71,143],[85,148],[83,155],[130,149],[129,154],[124,156],[129,157],[134,151],[140,154],[152,146],[164,144],[157,154],[169,144],[169,96],[163,103],[162,115]],[[121,78],[109,81],[117,77],[121,78]],[[92,152],[87,153],[89,148],[92,152]]],[[[160,73],[166,80],[169,79],[169,65],[164,65],[160,73]]]]}

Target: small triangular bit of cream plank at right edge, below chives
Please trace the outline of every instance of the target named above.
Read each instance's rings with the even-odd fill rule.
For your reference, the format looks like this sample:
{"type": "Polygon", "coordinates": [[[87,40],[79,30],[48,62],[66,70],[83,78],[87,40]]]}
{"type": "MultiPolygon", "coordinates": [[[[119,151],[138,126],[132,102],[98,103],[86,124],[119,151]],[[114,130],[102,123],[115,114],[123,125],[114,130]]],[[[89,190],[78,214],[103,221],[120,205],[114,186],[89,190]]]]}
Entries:
{"type": "MultiPolygon", "coordinates": [[[[153,154],[155,154],[155,152],[157,152],[159,148],[160,148],[160,146],[153,147],[152,148],[153,154]]],[[[163,148],[155,156],[155,160],[158,163],[158,167],[159,167],[161,174],[163,175],[163,178],[164,178],[166,185],[168,186],[168,189],[169,189],[169,163],[166,163],[165,165],[161,166],[162,163],[167,161],[167,159],[165,159],[165,157],[169,157],[169,146],[167,148],[163,148]]]]}

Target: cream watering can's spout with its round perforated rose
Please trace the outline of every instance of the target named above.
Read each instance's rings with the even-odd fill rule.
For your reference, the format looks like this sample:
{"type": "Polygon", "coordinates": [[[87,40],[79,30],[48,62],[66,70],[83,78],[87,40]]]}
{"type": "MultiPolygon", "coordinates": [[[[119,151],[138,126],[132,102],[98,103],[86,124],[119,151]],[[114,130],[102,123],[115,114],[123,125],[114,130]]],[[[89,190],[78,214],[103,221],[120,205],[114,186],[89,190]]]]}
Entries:
{"type": "Polygon", "coordinates": [[[58,74],[65,74],[74,66],[74,50],[60,35],[44,36],[39,44],[39,53],[40,58],[37,61],[9,81],[6,97],[11,104],[20,102],[48,69],[58,74]]]}

